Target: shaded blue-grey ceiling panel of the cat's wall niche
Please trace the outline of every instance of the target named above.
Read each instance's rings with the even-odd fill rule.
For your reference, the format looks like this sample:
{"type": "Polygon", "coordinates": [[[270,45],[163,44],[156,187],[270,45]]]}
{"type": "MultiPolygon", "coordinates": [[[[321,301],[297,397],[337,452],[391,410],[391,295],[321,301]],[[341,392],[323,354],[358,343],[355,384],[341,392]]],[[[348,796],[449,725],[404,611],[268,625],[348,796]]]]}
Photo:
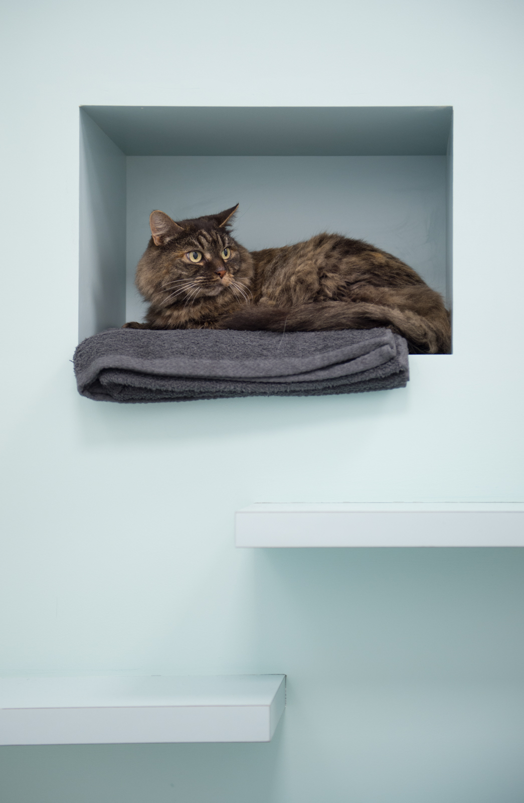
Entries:
{"type": "Polygon", "coordinates": [[[126,156],[445,156],[451,106],[82,106],[126,156]]]}

